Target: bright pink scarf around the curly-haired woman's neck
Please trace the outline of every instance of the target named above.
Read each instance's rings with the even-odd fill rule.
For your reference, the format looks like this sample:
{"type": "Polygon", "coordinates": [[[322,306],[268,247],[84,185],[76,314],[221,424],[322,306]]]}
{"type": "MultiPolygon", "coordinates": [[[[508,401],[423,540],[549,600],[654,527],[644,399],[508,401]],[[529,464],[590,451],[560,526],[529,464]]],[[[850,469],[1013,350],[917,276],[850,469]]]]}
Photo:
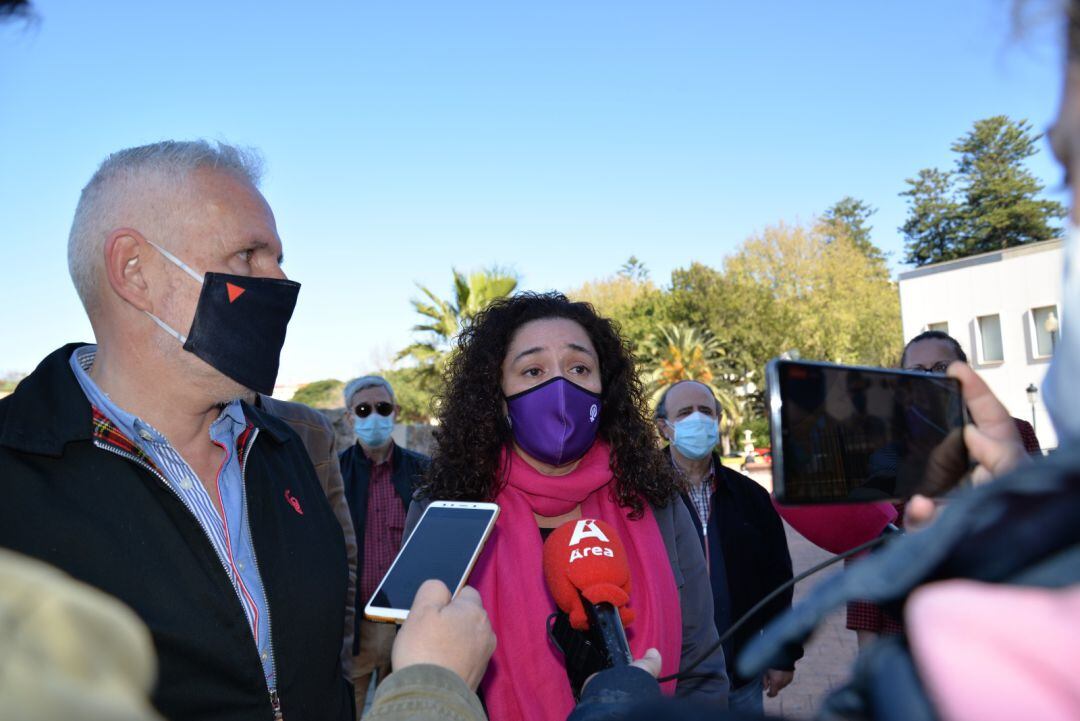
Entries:
{"type": "MultiPolygon", "coordinates": [[[[507,467],[507,455],[500,467],[507,467]]],[[[581,504],[583,518],[599,518],[616,529],[630,558],[635,612],[626,628],[630,649],[637,658],[656,648],[663,675],[677,671],[683,612],[667,549],[648,505],[640,519],[630,520],[630,509],[611,499],[608,445],[597,440],[565,476],[544,476],[517,453],[509,457],[508,482],[495,499],[499,520],[470,577],[498,638],[481,683],[491,721],[564,721],[573,710],[563,655],[548,640],[545,624],[556,609],[544,583],[543,542],[534,513],[561,516],[581,504]]],[[[674,693],[675,682],[662,689],[674,693]]]]}

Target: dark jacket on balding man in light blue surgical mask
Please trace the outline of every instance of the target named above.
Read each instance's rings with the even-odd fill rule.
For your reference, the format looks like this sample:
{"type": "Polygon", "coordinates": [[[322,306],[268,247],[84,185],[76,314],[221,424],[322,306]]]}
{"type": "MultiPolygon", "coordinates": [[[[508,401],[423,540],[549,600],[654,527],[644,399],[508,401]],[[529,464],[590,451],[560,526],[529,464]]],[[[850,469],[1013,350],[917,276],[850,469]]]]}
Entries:
{"type": "MultiPolygon", "coordinates": [[[[671,453],[671,449],[667,452],[671,453]]],[[[772,507],[768,491],[753,478],[726,467],[716,453],[713,454],[713,467],[716,468],[716,492],[713,494],[713,508],[708,515],[708,561],[712,566],[710,580],[715,594],[723,593],[720,589],[724,588],[726,579],[730,623],[734,623],[778,586],[792,580],[792,556],[787,550],[783,521],[772,507]],[[719,576],[720,573],[726,575],[719,576]]],[[[704,548],[705,534],[701,530],[701,519],[686,494],[683,495],[683,502],[690,512],[690,518],[698,529],[698,540],[704,548]]],[[[748,681],[734,671],[734,659],[739,657],[739,652],[761,632],[769,621],[792,607],[792,594],[793,589],[788,588],[769,601],[734,632],[730,644],[725,644],[733,652],[728,658],[732,689],[748,681]]],[[[720,634],[726,631],[726,624],[719,614],[716,621],[717,630],[720,634]],[[725,627],[720,628],[720,625],[725,627]]],[[[778,670],[793,670],[795,661],[801,657],[800,650],[789,664],[778,670]]]]}

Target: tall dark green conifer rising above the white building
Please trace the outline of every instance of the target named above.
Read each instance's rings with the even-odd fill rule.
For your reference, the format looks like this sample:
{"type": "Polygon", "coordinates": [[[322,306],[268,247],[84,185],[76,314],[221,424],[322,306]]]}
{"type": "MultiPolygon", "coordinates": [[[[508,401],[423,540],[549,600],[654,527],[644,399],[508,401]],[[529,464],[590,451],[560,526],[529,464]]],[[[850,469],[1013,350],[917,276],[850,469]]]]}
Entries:
{"type": "Polygon", "coordinates": [[[1056,237],[1065,207],[1040,199],[1043,186],[1025,166],[1041,136],[1026,120],[994,115],[953,144],[951,172],[923,168],[905,182],[906,262],[963,258],[1056,237]]]}

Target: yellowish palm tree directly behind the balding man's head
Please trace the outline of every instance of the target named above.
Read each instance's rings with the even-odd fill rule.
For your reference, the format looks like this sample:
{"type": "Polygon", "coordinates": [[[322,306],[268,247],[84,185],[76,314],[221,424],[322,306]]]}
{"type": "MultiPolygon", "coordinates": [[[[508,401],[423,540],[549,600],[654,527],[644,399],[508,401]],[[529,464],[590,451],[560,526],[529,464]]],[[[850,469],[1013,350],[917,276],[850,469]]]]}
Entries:
{"type": "Polygon", "coordinates": [[[743,408],[734,392],[738,375],[728,368],[727,353],[716,337],[707,329],[663,325],[642,344],[638,355],[653,407],[664,389],[678,381],[698,381],[712,390],[720,405],[720,445],[728,453],[743,408]]]}

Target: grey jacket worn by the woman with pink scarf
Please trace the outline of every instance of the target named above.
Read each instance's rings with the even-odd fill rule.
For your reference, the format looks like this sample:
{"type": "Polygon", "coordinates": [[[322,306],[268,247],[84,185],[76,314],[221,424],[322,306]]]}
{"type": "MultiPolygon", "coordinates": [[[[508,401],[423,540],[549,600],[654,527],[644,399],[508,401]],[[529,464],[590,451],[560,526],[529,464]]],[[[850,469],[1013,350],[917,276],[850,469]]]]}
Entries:
{"type": "MultiPolygon", "coordinates": [[[[405,538],[413,532],[428,503],[414,500],[409,505],[408,517],[405,519],[405,538]]],[[[679,603],[683,608],[683,655],[679,659],[679,669],[688,667],[703,653],[713,649],[708,657],[693,669],[693,678],[679,680],[675,695],[727,707],[729,690],[727,666],[724,662],[724,650],[716,643],[719,635],[716,631],[716,624],[713,623],[712,586],[705,568],[705,554],[701,549],[690,512],[677,496],[662,508],[651,507],[664,545],[667,547],[667,558],[672,563],[679,603]]]]}

